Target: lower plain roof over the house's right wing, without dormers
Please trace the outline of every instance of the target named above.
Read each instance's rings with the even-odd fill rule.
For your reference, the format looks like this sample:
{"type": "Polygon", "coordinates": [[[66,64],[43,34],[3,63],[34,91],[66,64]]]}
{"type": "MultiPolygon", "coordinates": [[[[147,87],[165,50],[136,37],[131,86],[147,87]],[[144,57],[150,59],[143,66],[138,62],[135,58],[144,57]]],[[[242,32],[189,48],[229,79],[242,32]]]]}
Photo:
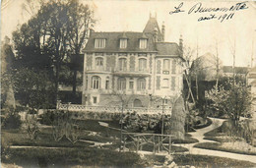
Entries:
{"type": "Polygon", "coordinates": [[[157,42],[156,44],[158,55],[180,55],[179,46],[175,42],[157,42]]]}

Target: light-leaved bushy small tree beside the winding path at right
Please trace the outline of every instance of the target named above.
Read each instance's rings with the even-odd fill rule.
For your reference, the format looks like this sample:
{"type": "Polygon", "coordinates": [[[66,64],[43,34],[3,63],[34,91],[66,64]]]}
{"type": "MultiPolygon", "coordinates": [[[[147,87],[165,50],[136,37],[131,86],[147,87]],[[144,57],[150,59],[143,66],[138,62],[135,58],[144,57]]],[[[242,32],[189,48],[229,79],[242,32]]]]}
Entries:
{"type": "Polygon", "coordinates": [[[207,98],[212,101],[211,108],[224,112],[238,126],[241,116],[250,113],[251,96],[245,84],[241,82],[227,82],[215,87],[207,93],[207,98]]]}

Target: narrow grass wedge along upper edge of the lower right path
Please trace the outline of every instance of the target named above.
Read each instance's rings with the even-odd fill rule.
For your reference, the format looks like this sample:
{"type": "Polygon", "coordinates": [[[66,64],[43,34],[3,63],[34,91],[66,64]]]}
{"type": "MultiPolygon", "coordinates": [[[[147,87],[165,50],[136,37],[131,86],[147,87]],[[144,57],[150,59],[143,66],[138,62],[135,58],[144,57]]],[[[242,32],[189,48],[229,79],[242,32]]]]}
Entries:
{"type": "Polygon", "coordinates": [[[248,150],[245,151],[242,147],[240,149],[226,148],[222,146],[221,143],[218,143],[218,142],[201,142],[201,143],[195,144],[194,147],[206,148],[206,149],[212,149],[212,150],[221,150],[221,151],[238,153],[238,154],[256,155],[255,151],[248,151],[248,150]]]}

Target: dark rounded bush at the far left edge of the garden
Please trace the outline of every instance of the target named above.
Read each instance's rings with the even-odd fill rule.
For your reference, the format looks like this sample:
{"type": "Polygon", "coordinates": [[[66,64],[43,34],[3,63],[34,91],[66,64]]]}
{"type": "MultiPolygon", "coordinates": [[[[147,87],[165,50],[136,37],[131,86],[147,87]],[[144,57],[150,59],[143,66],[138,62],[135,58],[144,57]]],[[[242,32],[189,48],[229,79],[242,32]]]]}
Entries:
{"type": "Polygon", "coordinates": [[[8,113],[3,120],[3,129],[19,129],[21,125],[21,116],[17,112],[8,113]]]}

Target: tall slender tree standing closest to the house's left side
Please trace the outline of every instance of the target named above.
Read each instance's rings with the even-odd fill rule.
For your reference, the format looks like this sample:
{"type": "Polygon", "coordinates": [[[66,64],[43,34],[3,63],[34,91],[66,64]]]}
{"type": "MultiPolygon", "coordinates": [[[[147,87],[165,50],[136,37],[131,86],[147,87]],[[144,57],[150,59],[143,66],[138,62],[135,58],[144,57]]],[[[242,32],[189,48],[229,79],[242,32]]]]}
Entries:
{"type": "Polygon", "coordinates": [[[71,49],[71,68],[73,70],[73,94],[76,95],[77,72],[83,70],[80,54],[89,37],[90,28],[94,27],[94,11],[88,5],[79,4],[78,0],[71,0],[68,6],[69,46],[71,49]]]}

